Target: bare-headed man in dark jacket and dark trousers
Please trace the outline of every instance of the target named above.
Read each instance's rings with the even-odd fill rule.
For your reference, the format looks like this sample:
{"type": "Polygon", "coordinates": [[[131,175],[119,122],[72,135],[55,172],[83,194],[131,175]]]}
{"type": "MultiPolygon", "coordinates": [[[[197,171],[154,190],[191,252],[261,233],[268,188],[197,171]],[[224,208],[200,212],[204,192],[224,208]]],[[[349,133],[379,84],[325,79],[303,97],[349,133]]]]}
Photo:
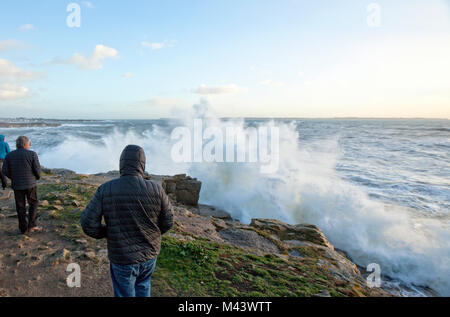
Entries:
{"type": "Polygon", "coordinates": [[[30,140],[20,136],[16,140],[16,150],[10,152],[3,162],[2,172],[11,179],[14,190],[19,229],[22,234],[42,231],[36,225],[38,198],[36,181],[41,178],[41,165],[37,154],[30,151],[30,140]],[[26,202],[28,201],[28,221],[26,202]]]}

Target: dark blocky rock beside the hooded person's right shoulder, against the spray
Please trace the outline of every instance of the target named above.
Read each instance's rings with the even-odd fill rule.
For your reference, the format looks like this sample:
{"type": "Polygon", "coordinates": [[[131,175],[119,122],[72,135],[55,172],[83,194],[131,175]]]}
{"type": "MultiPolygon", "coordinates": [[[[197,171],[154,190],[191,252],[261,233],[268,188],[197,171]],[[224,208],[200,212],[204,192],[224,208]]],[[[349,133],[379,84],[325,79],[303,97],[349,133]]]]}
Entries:
{"type": "Polygon", "coordinates": [[[161,185],[169,196],[183,205],[197,206],[202,183],[186,174],[164,177],[161,185]]]}

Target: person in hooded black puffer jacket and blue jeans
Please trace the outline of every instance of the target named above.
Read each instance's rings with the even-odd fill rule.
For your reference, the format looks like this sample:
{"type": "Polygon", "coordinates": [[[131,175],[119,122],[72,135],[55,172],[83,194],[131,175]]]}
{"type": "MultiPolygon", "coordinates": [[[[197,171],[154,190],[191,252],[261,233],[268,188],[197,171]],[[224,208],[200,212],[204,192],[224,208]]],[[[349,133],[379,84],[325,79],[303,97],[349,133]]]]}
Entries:
{"type": "Polygon", "coordinates": [[[101,185],[81,214],[88,236],[107,239],[116,297],[150,297],[161,235],[173,225],[166,193],[159,184],[144,179],[145,160],[141,147],[125,147],[120,178],[101,185]]]}

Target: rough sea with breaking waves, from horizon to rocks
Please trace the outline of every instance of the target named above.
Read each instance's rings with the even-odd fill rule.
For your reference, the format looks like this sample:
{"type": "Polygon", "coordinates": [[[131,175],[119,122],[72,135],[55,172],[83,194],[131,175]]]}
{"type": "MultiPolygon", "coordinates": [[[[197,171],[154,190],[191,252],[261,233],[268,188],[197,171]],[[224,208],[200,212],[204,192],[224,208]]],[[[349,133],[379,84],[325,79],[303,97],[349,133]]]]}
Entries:
{"type": "MultiPolygon", "coordinates": [[[[5,120],[3,120],[5,121],[5,120]]],[[[176,162],[177,127],[158,120],[9,120],[50,124],[0,128],[12,149],[26,135],[41,164],[78,173],[117,170],[137,144],[147,172],[185,173],[202,182],[200,202],[249,223],[311,223],[364,270],[402,296],[450,296],[450,120],[257,119],[204,117],[205,127],[277,127],[278,168],[258,162],[176,162]]]]}

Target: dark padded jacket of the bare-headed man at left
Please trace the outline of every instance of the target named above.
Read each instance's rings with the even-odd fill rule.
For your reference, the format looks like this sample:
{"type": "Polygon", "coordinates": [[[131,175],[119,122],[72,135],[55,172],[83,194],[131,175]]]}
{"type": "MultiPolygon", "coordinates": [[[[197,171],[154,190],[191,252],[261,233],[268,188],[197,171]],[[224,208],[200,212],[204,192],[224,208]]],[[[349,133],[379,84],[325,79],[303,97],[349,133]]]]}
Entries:
{"type": "Polygon", "coordinates": [[[19,148],[6,155],[2,173],[11,180],[14,190],[36,187],[41,178],[41,165],[36,152],[19,148]]]}

